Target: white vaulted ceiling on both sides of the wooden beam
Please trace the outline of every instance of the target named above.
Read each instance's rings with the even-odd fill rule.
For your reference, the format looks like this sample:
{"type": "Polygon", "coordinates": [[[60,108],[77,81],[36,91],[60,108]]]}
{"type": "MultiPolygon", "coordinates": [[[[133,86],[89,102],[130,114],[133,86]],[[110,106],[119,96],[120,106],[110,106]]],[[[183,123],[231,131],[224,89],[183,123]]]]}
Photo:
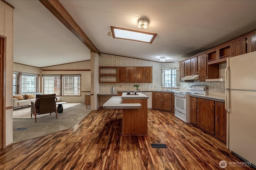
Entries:
{"type": "MultiPolygon", "coordinates": [[[[45,67],[90,60],[86,47],[38,0],[14,6],[14,62],[45,67]]],[[[159,62],[192,55],[256,30],[254,0],[60,0],[100,53],[159,62]],[[146,17],[148,28],[138,28],[146,17]],[[157,33],[152,44],[108,36],[110,26],[157,33]]]]}

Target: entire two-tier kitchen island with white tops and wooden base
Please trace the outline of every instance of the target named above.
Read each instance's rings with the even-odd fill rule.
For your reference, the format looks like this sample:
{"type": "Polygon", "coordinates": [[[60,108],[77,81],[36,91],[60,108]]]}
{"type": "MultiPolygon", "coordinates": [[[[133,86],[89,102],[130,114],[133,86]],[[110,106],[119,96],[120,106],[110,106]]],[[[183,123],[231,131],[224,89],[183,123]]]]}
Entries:
{"type": "Polygon", "coordinates": [[[148,134],[148,96],[124,92],[110,98],[103,108],[122,109],[122,135],[148,134]]]}

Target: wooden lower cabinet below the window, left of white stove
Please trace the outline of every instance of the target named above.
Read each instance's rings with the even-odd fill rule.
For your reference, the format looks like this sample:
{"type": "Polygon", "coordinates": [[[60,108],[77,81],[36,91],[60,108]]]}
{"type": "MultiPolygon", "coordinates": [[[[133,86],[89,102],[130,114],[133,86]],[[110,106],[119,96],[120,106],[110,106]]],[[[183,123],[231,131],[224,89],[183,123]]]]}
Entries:
{"type": "Polygon", "coordinates": [[[173,93],[152,92],[152,109],[174,112],[173,93]]]}

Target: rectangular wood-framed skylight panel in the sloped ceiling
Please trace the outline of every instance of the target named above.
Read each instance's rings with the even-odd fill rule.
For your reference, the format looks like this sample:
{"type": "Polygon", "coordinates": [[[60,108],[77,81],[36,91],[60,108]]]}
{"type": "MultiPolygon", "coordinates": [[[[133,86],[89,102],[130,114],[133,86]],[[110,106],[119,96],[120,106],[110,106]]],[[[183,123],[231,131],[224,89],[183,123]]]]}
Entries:
{"type": "Polygon", "coordinates": [[[113,38],[127,39],[132,41],[139,41],[143,43],[150,43],[156,38],[156,33],[148,33],[144,31],[136,31],[132,29],[119,28],[110,26],[113,38]]]}

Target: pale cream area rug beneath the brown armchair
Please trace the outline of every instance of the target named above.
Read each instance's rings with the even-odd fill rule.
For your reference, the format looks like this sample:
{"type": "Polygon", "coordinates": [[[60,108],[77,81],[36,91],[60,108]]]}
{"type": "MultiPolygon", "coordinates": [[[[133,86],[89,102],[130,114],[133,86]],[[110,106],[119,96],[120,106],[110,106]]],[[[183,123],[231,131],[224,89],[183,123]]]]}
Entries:
{"type": "MultiPolygon", "coordinates": [[[[80,103],[66,103],[66,104],[62,104],[62,107],[63,107],[63,110],[64,110],[64,109],[76,106],[78,104],[80,104],[80,103]]],[[[32,115],[32,118],[31,118],[30,111],[31,111],[30,106],[14,109],[13,118],[14,119],[35,119],[34,115],[32,115]]],[[[55,116],[55,113],[53,113],[53,114],[55,116]]],[[[61,114],[61,113],[59,113],[59,114],[61,114]]],[[[36,119],[40,119],[41,117],[48,116],[48,115],[50,115],[50,113],[49,114],[36,115],[36,119]]]]}

